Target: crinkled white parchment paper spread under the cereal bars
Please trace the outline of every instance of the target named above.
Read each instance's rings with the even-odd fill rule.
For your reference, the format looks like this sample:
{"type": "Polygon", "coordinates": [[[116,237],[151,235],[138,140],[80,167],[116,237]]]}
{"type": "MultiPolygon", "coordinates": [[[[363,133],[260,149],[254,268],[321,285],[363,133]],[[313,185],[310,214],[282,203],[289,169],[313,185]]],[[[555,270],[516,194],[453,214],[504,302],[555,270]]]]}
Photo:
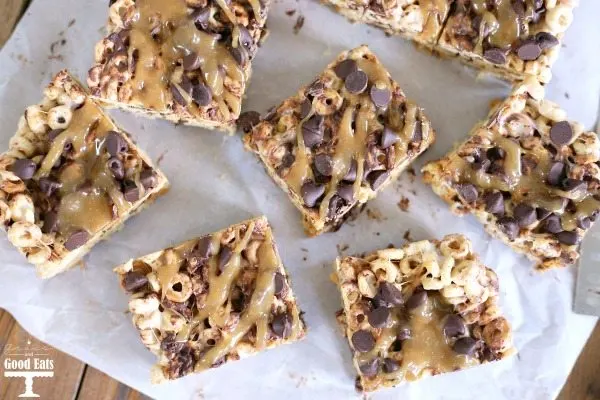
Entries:
{"type": "MultiPolygon", "coordinates": [[[[36,0],[0,53],[0,148],[8,146],[24,108],[41,98],[41,89],[68,67],[85,79],[94,44],[107,17],[106,0],[36,0]],[[66,42],[62,43],[64,39],[66,42]],[[51,46],[55,43],[54,46],[51,46]],[[52,50],[51,51],[51,47],[52,50]]],[[[600,97],[600,2],[583,1],[566,34],[547,97],[569,117],[591,128],[600,97]]],[[[400,38],[375,28],[351,25],[326,7],[307,0],[275,0],[271,36],[254,62],[245,109],[264,111],[295,93],[338,52],[367,43],[407,95],[425,107],[438,141],[417,163],[439,157],[483,118],[489,102],[509,88],[456,62],[418,52],[400,38]],[[293,16],[287,10],[297,10],[293,16]],[[304,27],[292,27],[304,15],[304,27]]],[[[595,319],[571,312],[574,268],[534,272],[532,264],[491,240],[471,217],[458,218],[432,191],[408,176],[369,203],[339,232],[304,236],[299,214],[244,152],[239,137],[175,127],[112,112],[139,145],[157,159],[172,189],[110,240],[96,246],[84,269],[41,281],[24,259],[0,239],[0,307],[32,335],[155,398],[342,399],[354,391],[350,352],[334,313],[340,299],[329,281],[336,246],[346,253],[462,232],[499,276],[502,307],[515,332],[519,355],[479,368],[446,374],[384,390],[373,398],[550,399],[563,385],[595,319]],[[397,203],[410,200],[408,212],[397,203]],[[310,327],[307,338],[240,362],[162,386],[149,383],[154,356],[140,343],[112,268],[143,255],[242,219],[266,214],[271,221],[300,306],[310,327]],[[306,249],[307,251],[304,251],[306,249]]],[[[594,239],[588,239],[594,240],[594,239]]],[[[599,239],[595,239],[599,240],[599,239]]],[[[599,240],[600,241],[600,240],[599,240]]],[[[590,248],[591,246],[588,246],[590,248]]],[[[598,248],[598,247],[596,247],[598,248]]],[[[55,371],[60,376],[61,371],[55,371]]]]}

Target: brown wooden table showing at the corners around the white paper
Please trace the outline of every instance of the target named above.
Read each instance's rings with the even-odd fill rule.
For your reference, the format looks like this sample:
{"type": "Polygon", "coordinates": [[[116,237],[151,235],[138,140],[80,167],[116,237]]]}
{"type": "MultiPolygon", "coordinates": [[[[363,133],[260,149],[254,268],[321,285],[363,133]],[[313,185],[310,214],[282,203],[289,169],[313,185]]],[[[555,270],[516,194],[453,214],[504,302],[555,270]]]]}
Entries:
{"type": "MultiPolygon", "coordinates": [[[[0,48],[10,33],[28,0],[0,0],[0,48]]],[[[0,309],[0,361],[11,357],[16,346],[36,346],[41,342],[24,331],[14,318],[0,309]]],[[[34,391],[42,399],[134,400],[146,396],[136,392],[106,374],[81,361],[50,349],[56,376],[37,378],[34,391]]],[[[4,366],[0,363],[0,371],[4,366]]],[[[24,391],[23,379],[0,376],[0,399],[16,399],[24,391]]],[[[559,400],[600,400],[600,322],[586,344],[564,386],[559,400]]]]}

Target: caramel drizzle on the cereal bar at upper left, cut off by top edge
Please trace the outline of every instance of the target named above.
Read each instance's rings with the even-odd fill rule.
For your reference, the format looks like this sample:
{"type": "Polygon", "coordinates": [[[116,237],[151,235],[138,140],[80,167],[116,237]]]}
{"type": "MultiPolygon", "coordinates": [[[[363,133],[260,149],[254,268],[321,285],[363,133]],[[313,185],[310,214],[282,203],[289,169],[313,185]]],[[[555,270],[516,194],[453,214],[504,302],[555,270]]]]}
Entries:
{"type": "MultiPolygon", "coordinates": [[[[231,21],[235,16],[223,0],[217,3],[231,21]]],[[[178,60],[192,52],[200,58],[200,71],[213,99],[226,119],[239,115],[241,102],[224,86],[224,75],[241,84],[244,91],[246,76],[227,48],[210,35],[196,28],[188,18],[186,4],[182,0],[137,0],[137,14],[130,32],[130,49],[138,50],[138,62],[131,80],[134,101],[158,111],[165,111],[172,95],[168,90],[171,74],[178,60]],[[151,36],[152,29],[170,32],[162,45],[151,36]],[[221,68],[224,72],[221,72],[221,68]],[[229,110],[231,108],[231,112],[229,110]]],[[[190,103],[192,111],[198,107],[190,103]]]]}

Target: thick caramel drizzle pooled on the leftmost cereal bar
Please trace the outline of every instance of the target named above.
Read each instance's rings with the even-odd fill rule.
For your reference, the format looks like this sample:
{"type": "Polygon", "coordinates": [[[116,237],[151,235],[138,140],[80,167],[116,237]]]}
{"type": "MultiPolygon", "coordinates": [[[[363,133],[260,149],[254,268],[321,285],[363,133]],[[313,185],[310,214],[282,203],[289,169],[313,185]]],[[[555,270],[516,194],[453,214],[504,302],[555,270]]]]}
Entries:
{"type": "Polygon", "coordinates": [[[39,180],[49,176],[65,145],[72,145],[74,159],[62,167],[58,176],[62,184],[58,229],[65,237],[78,229],[89,234],[99,232],[113,221],[113,205],[118,215],[131,207],[108,168],[109,154],[101,150],[103,137],[115,129],[97,106],[86,100],[81,108],[73,110],[70,125],[54,139],[34,177],[39,180]],[[79,190],[85,183],[90,184],[89,190],[79,190]]]}

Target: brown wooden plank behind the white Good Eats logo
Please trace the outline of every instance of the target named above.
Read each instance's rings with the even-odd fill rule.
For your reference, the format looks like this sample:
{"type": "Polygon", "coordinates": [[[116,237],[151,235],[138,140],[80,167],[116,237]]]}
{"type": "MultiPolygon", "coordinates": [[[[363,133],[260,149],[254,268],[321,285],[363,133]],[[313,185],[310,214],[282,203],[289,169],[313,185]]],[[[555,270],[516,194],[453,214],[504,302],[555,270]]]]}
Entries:
{"type": "Polygon", "coordinates": [[[54,377],[35,378],[33,391],[45,399],[74,399],[83,377],[85,364],[35,339],[4,311],[0,315],[0,328],[8,327],[10,322],[6,321],[9,320],[13,321],[9,333],[0,330],[0,339],[4,341],[2,354],[0,354],[2,360],[0,399],[15,399],[25,391],[23,378],[4,377],[4,361],[30,359],[31,369],[33,369],[35,358],[52,360],[54,377]],[[25,353],[33,355],[23,355],[25,353]]]}

